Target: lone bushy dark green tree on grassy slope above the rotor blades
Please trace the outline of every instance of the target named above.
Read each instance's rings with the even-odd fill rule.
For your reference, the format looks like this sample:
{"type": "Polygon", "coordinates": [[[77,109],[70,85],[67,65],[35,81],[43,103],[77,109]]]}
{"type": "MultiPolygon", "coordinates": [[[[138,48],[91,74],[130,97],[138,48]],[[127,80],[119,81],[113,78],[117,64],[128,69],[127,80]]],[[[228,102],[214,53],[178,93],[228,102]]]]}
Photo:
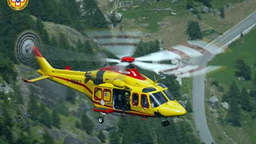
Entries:
{"type": "Polygon", "coordinates": [[[203,38],[199,23],[195,20],[188,21],[187,34],[191,40],[203,38]]]}

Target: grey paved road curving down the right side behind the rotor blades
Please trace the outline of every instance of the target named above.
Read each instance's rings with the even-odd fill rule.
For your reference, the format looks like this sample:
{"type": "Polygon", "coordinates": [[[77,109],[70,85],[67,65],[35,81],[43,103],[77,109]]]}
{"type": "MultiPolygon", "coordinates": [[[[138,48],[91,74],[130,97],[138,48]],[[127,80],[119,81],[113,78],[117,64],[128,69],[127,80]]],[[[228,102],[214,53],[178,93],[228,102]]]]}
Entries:
{"type": "MultiPolygon", "coordinates": [[[[212,44],[225,48],[225,45],[232,42],[234,38],[240,35],[241,32],[246,31],[248,28],[256,24],[256,13],[247,17],[244,21],[234,26],[228,32],[218,37],[212,42],[212,44]]],[[[198,66],[207,66],[208,60],[213,57],[214,54],[206,54],[202,58],[196,61],[198,66]]],[[[195,76],[193,78],[193,90],[192,90],[192,102],[194,110],[194,120],[196,127],[199,131],[201,140],[206,144],[214,142],[210,130],[206,122],[205,108],[204,108],[204,80],[205,75],[195,76]]]]}

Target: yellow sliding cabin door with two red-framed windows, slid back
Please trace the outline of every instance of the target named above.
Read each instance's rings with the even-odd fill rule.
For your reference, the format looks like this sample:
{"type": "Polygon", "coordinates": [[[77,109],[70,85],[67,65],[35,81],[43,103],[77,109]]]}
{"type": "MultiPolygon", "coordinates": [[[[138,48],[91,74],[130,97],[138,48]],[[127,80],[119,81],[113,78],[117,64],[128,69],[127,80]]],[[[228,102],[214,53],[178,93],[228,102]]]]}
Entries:
{"type": "Polygon", "coordinates": [[[113,88],[110,86],[101,86],[101,85],[94,86],[92,100],[94,101],[94,104],[112,107],[113,88]]]}

